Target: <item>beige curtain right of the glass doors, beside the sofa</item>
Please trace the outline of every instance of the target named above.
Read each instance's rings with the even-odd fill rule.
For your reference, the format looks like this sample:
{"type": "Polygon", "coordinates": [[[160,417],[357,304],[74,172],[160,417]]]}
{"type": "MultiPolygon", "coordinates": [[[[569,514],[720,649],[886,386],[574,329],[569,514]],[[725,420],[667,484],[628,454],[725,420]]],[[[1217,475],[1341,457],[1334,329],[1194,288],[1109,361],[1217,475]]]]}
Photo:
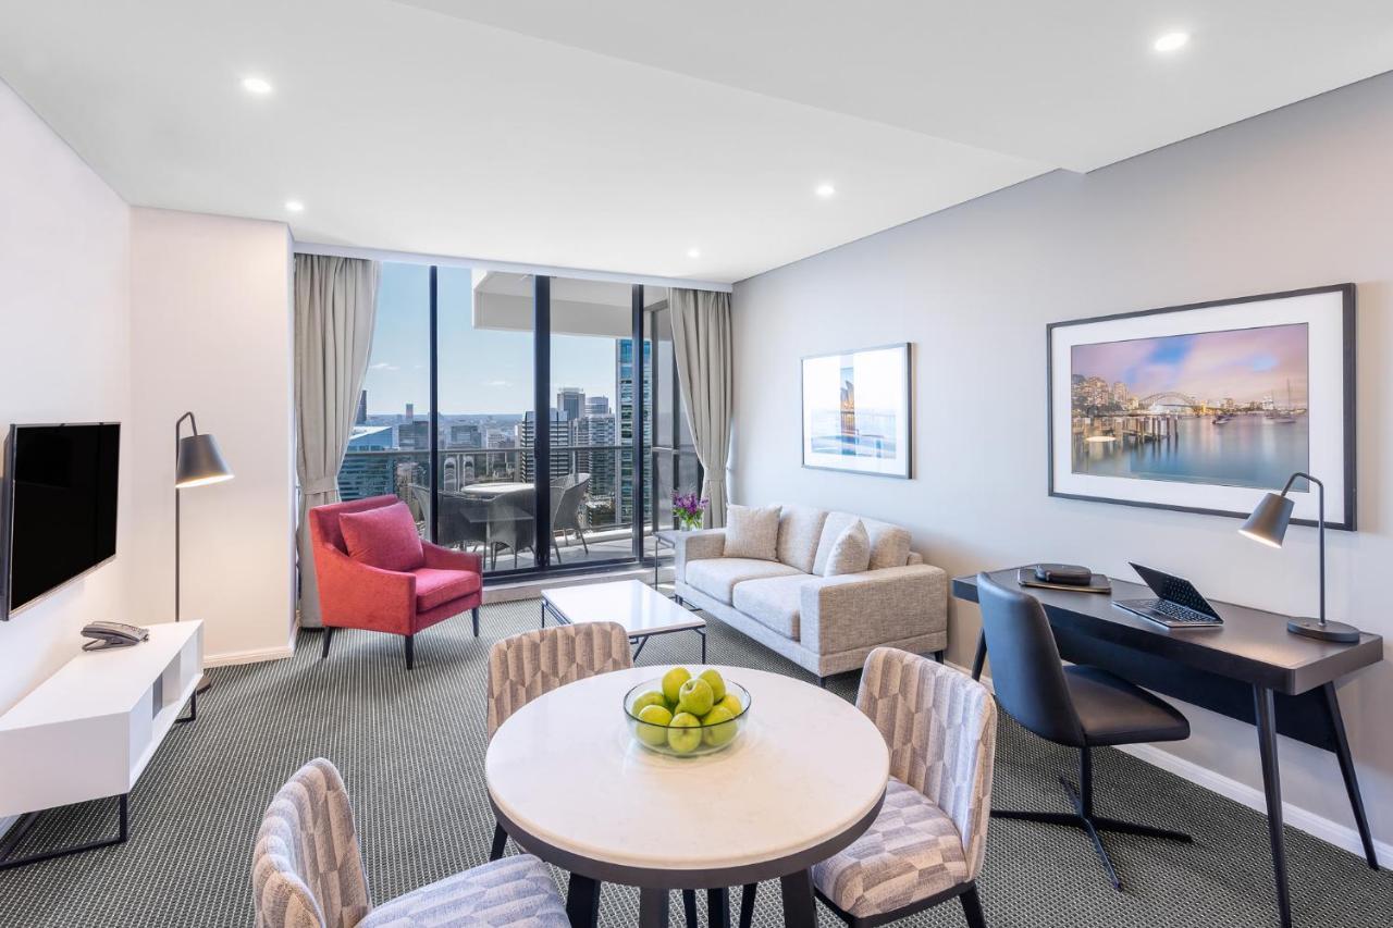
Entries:
{"type": "Polygon", "coordinates": [[[726,463],[730,458],[731,392],[730,294],[706,290],[669,291],[673,353],[687,425],[706,471],[701,495],[710,500],[706,524],[726,524],[726,463]]]}

